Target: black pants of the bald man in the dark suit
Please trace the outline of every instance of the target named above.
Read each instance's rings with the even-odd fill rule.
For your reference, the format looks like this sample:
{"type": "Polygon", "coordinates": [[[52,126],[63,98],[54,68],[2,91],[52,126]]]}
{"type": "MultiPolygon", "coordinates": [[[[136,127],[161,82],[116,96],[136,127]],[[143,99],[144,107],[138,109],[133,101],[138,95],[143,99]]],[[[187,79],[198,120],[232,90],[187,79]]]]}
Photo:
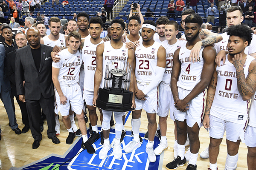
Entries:
{"type": "Polygon", "coordinates": [[[41,140],[42,134],[40,132],[41,124],[41,108],[46,116],[48,130],[47,135],[53,137],[56,135],[55,131],[55,114],[54,114],[54,96],[45,99],[41,94],[40,100],[26,99],[26,108],[29,116],[29,127],[32,136],[35,140],[41,140]]]}

